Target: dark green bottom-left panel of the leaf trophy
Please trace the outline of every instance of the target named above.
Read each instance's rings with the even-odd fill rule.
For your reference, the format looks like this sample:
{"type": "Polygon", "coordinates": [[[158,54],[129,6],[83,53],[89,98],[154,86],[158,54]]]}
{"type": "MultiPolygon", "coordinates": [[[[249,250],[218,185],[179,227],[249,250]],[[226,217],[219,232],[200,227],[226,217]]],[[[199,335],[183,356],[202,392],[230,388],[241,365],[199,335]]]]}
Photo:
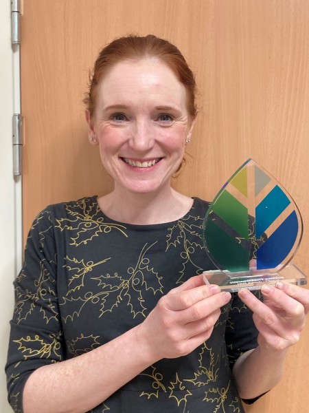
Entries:
{"type": "Polygon", "coordinates": [[[207,220],[204,237],[209,257],[220,269],[249,271],[249,251],[230,237],[216,222],[207,220]]]}

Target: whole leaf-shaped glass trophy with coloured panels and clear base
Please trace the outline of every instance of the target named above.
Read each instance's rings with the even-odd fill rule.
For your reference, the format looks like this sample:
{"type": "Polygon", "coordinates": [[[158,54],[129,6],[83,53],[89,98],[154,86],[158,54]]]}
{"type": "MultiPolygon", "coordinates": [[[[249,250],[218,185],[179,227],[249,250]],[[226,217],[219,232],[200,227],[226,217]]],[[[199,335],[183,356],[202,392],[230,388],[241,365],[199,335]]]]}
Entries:
{"type": "Polygon", "coordinates": [[[207,284],[223,290],[258,290],[266,282],[307,284],[289,264],[303,234],[297,205],[273,176],[252,159],[244,162],[211,203],[203,224],[209,258],[207,284]]]}

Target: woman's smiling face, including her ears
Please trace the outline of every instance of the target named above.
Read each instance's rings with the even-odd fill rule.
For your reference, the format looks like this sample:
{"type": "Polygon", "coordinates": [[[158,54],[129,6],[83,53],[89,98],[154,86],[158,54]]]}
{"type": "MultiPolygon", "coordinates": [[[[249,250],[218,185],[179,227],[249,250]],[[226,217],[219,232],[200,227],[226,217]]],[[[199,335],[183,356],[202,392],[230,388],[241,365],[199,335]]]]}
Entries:
{"type": "Polygon", "coordinates": [[[170,187],[194,123],[185,87],[157,59],[117,63],[98,85],[87,120],[115,190],[133,193],[170,187]]]}

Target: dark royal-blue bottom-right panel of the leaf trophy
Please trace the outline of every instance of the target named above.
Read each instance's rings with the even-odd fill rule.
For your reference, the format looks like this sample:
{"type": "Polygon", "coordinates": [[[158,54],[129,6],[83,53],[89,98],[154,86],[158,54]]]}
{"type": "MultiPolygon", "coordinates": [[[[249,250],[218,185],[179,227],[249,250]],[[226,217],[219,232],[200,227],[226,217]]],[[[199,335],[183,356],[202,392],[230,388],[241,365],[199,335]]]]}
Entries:
{"type": "Polygon", "coordinates": [[[258,270],[275,268],[281,264],[293,248],[298,233],[295,211],[276,229],[256,253],[258,270]]]}

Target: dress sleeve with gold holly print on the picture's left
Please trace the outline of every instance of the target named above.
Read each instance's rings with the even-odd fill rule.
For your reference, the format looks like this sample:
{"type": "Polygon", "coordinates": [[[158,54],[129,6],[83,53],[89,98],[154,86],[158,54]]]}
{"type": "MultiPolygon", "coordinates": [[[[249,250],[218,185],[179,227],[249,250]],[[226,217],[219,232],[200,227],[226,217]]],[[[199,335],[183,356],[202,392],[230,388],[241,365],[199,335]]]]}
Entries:
{"type": "Polygon", "coordinates": [[[30,230],[24,265],[14,282],[15,306],[8,361],[8,401],[23,412],[23,388],[37,368],[62,361],[65,346],[56,289],[57,254],[51,211],[42,211],[30,230]]]}

